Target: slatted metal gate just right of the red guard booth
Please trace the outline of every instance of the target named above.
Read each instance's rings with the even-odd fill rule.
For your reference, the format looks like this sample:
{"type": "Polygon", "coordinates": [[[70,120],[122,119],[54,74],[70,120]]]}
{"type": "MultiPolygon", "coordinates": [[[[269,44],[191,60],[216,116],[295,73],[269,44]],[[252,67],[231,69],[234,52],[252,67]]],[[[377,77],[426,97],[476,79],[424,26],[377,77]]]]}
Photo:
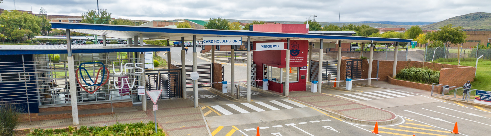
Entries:
{"type": "MultiPolygon", "coordinates": [[[[336,79],[337,75],[337,60],[326,60],[322,61],[322,81],[327,81],[327,75],[331,74],[331,80],[336,79]]],[[[319,62],[310,61],[310,70],[309,70],[309,80],[310,81],[318,81],[318,73],[319,73],[319,62]]]]}

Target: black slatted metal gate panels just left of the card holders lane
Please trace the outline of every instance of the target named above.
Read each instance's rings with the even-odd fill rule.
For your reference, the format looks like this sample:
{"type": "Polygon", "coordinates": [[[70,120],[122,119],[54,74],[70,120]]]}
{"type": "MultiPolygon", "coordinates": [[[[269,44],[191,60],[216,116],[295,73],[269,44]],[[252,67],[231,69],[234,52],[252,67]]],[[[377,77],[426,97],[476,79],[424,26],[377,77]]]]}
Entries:
{"type": "MultiPolygon", "coordinates": [[[[177,65],[181,67],[181,65],[177,65]]],[[[192,65],[186,65],[186,88],[192,88],[191,79],[192,65]]],[[[212,65],[201,64],[198,65],[197,72],[199,74],[198,83],[210,83],[212,82],[212,65]]],[[[211,84],[198,84],[198,87],[211,87],[211,84]]]]}

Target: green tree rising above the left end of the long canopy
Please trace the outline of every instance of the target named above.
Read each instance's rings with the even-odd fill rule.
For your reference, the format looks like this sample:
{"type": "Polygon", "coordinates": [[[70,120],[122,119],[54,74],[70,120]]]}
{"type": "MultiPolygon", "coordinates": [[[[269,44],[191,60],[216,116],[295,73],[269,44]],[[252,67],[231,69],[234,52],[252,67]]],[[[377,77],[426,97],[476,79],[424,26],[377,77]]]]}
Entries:
{"type": "Polygon", "coordinates": [[[100,14],[97,14],[97,10],[88,10],[82,13],[82,22],[87,24],[109,24],[111,14],[107,9],[100,9],[100,14]],[[95,20],[95,22],[94,22],[95,20]]]}

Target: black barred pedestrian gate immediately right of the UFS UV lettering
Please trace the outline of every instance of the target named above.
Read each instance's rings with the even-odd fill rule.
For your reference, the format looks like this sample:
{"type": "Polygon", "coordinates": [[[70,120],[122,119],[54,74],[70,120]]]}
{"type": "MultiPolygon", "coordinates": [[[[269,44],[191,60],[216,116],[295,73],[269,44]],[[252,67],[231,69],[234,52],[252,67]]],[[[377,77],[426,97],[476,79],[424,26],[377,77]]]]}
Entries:
{"type": "MultiPolygon", "coordinates": [[[[146,70],[145,84],[146,91],[162,89],[161,99],[170,97],[181,98],[181,72],[180,69],[165,69],[165,70],[146,70]],[[166,72],[174,70],[177,72],[166,72]],[[165,72],[164,72],[165,71],[165,72]]],[[[150,99],[147,96],[147,99],[150,99]]]]}

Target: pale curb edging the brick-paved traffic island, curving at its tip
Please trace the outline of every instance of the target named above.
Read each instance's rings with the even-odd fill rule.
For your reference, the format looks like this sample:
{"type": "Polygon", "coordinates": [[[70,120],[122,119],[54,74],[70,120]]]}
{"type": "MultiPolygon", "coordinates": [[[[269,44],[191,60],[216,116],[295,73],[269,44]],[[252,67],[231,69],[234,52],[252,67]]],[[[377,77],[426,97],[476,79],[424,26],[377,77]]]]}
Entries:
{"type": "MultiPolygon", "coordinates": [[[[244,84],[244,83],[242,83],[242,84],[244,84]]],[[[242,84],[241,84],[241,85],[242,85],[242,84]]],[[[277,96],[277,97],[282,97],[282,98],[293,99],[293,98],[290,98],[290,97],[287,97],[287,96],[280,95],[280,94],[278,94],[278,93],[274,93],[274,92],[271,92],[271,91],[266,91],[266,90],[263,90],[263,89],[259,89],[259,88],[257,88],[257,87],[253,87],[253,86],[251,86],[250,88],[251,88],[251,90],[258,91],[258,92],[262,92],[262,93],[267,93],[267,94],[272,94],[272,95],[277,96]]],[[[299,101],[298,101],[298,102],[299,102],[299,101]]],[[[388,111],[388,112],[390,112],[390,113],[394,114],[396,117],[395,117],[395,118],[393,118],[393,119],[390,119],[390,120],[385,120],[385,121],[370,121],[370,120],[361,120],[361,119],[354,119],[354,118],[350,118],[350,117],[347,117],[347,116],[342,115],[342,114],[337,113],[337,112],[329,111],[329,110],[327,110],[327,109],[322,109],[322,108],[319,108],[319,107],[316,107],[316,106],[312,106],[312,105],[310,105],[310,104],[306,104],[306,103],[303,103],[303,102],[300,102],[300,103],[302,103],[302,104],[304,104],[304,105],[308,105],[308,106],[310,106],[310,107],[315,107],[315,108],[317,108],[317,109],[323,110],[324,112],[327,112],[328,114],[333,115],[333,116],[335,116],[335,117],[339,117],[339,118],[342,118],[342,119],[344,119],[344,120],[348,120],[348,121],[352,121],[352,122],[356,122],[356,123],[362,123],[362,124],[374,125],[374,124],[375,124],[375,122],[378,122],[378,124],[390,124],[390,123],[397,122],[397,121],[399,120],[399,117],[397,117],[397,115],[396,115],[395,113],[393,113],[393,112],[391,112],[391,111],[388,111],[388,110],[385,110],[385,111],[388,111]]]]}

